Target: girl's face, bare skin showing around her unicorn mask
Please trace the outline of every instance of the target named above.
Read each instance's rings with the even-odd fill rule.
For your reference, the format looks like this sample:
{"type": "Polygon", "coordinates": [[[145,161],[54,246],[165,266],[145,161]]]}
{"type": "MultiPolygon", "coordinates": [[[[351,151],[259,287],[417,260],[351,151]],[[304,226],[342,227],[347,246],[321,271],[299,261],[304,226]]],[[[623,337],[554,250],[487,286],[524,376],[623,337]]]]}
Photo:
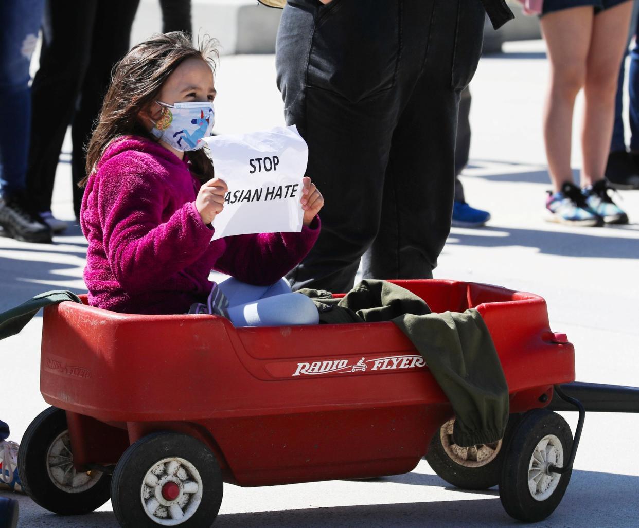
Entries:
{"type": "MultiPolygon", "coordinates": [[[[158,94],[157,100],[169,105],[175,103],[192,103],[213,101],[215,99],[215,86],[213,85],[213,72],[210,66],[202,59],[191,57],[185,59],[176,70],[169,75],[164,86],[158,94]]],[[[150,107],[143,112],[141,119],[148,130],[153,128],[161,117],[162,107],[158,103],[151,103],[150,107]]],[[[162,143],[162,141],[160,141],[162,143]]],[[[171,151],[174,149],[168,147],[171,151]]],[[[174,151],[176,156],[182,158],[183,153],[174,151]]]]}

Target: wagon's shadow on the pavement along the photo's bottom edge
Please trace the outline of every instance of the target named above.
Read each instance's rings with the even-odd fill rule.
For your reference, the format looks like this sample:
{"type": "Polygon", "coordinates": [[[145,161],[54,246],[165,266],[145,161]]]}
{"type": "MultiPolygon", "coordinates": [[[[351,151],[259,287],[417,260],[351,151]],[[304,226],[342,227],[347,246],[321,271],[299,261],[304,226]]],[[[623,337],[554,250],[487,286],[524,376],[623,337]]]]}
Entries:
{"type": "MultiPolygon", "coordinates": [[[[444,481],[429,474],[406,474],[382,479],[412,485],[442,487],[444,481]],[[408,480],[404,479],[407,477],[408,480]],[[417,479],[413,479],[417,477],[417,479]]],[[[362,487],[366,481],[362,482],[362,487]]],[[[635,528],[636,497],[639,477],[592,471],[574,471],[564,499],[546,522],[535,526],[615,526],[635,528]]],[[[452,488],[451,488],[452,490],[452,488]]],[[[489,490],[488,494],[493,494],[489,490]]],[[[394,495],[397,495],[397,490],[394,495]]],[[[20,502],[20,524],[36,527],[113,528],[116,521],[111,511],[89,515],[62,517],[37,506],[25,495],[0,493],[20,502]]],[[[312,499],[309,499],[312,502],[312,499]]],[[[284,509],[255,513],[227,513],[219,515],[215,528],[325,528],[330,527],[449,527],[449,526],[521,526],[505,513],[497,497],[476,500],[406,502],[399,504],[361,504],[306,509],[284,509]]]]}

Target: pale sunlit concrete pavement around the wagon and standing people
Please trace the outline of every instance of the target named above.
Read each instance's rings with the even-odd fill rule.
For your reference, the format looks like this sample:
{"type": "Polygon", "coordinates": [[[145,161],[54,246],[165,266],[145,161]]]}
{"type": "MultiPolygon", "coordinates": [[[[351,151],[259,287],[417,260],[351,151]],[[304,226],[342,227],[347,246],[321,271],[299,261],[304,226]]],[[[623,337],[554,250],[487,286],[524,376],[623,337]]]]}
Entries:
{"type": "MultiPolygon", "coordinates": [[[[482,58],[471,85],[471,163],[466,199],[488,209],[482,229],[456,229],[436,278],[502,285],[540,294],[551,329],[576,349],[579,381],[639,386],[639,191],[619,192],[631,223],[569,228],[543,220],[549,188],[541,134],[548,64],[541,41],[506,43],[482,58]]],[[[283,124],[272,55],[224,56],[217,72],[217,132],[283,124]]],[[[578,100],[580,116],[582,107],[578,100]]],[[[577,119],[573,167],[580,167],[577,119]]],[[[85,290],[86,241],[73,222],[68,143],[61,156],[53,211],[73,223],[53,245],[0,238],[0,310],[50,289],[85,290]]],[[[427,160],[424,160],[427,163],[427,160]]],[[[0,342],[0,418],[19,441],[47,405],[38,391],[42,318],[0,342]]],[[[540,364],[540,369],[551,365],[540,364]]],[[[565,413],[574,430],[576,415],[565,413]]],[[[639,416],[590,413],[575,471],[555,513],[540,526],[636,527],[639,524],[639,416]]],[[[357,446],[353,446],[357,449],[357,446]]],[[[1,496],[10,496],[0,492],[1,496]]],[[[24,495],[20,527],[114,527],[111,503],[80,517],[59,517],[24,495]]],[[[219,527],[467,527],[514,526],[497,489],[451,488],[426,462],[415,471],[367,481],[329,481],[262,488],[225,485],[219,527]]]]}

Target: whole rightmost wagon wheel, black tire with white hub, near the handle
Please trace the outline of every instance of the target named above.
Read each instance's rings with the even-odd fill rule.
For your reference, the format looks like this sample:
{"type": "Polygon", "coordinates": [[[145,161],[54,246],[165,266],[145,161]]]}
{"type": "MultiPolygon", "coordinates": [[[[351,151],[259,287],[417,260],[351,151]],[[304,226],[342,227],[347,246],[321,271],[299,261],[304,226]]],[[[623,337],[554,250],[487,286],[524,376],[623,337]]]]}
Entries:
{"type": "Polygon", "coordinates": [[[547,409],[528,411],[512,435],[505,458],[499,495],[511,517],[525,522],[544,520],[561,502],[571,472],[553,473],[570,456],[573,435],[566,420],[547,409]]]}

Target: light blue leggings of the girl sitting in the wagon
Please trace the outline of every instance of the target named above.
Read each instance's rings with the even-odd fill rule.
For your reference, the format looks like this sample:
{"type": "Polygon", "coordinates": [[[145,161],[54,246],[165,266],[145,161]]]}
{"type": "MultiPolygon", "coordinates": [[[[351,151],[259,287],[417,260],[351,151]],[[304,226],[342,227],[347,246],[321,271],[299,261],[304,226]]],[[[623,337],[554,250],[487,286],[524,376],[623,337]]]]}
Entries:
{"type": "Polygon", "coordinates": [[[227,278],[219,284],[229,301],[234,326],[288,326],[318,324],[318,310],[307,296],[293,293],[283,278],[270,286],[254,286],[227,278]]]}

